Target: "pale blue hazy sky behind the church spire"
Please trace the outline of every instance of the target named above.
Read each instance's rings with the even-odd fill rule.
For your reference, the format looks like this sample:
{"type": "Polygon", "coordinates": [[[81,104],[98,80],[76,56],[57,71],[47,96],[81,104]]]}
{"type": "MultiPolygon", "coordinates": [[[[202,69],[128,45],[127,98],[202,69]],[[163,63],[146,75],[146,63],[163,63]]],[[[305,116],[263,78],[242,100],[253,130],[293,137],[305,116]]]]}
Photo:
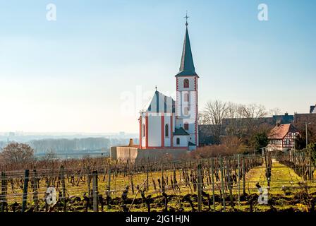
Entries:
{"type": "Polygon", "coordinates": [[[174,95],[186,16],[209,100],[315,105],[316,1],[0,0],[0,132],[138,132],[154,87],[174,95]],[[259,4],[268,20],[258,20],[259,4]],[[56,20],[47,20],[48,4],[56,20]]]}

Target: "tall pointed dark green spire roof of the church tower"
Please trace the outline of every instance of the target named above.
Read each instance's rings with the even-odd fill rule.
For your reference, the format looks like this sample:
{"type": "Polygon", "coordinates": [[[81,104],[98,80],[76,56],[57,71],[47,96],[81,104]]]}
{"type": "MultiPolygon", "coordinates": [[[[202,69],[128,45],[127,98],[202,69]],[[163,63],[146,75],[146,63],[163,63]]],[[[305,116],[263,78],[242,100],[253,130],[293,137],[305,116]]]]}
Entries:
{"type": "Polygon", "coordinates": [[[184,37],[180,69],[179,72],[176,74],[176,77],[178,76],[197,76],[191,52],[188,23],[186,23],[186,35],[184,37]]]}

